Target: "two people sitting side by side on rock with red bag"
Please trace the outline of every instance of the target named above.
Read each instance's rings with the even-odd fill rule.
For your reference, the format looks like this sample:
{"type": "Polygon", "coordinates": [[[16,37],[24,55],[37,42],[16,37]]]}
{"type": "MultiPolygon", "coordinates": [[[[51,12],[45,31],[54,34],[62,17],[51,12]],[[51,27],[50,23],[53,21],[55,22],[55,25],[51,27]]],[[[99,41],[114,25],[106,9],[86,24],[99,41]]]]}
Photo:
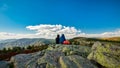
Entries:
{"type": "Polygon", "coordinates": [[[56,37],[56,44],[66,44],[66,45],[68,45],[68,44],[70,44],[70,42],[68,40],[66,40],[64,34],[62,34],[61,37],[58,34],[57,37],[56,37]]]}

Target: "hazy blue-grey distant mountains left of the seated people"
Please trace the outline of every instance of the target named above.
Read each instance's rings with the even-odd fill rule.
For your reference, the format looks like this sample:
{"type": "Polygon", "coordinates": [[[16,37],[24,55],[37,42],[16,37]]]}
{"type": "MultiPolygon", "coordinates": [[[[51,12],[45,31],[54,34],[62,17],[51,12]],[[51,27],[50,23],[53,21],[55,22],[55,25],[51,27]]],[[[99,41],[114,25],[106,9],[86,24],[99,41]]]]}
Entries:
{"type": "Polygon", "coordinates": [[[53,39],[44,39],[44,38],[22,38],[22,39],[8,39],[0,41],[0,49],[4,47],[25,47],[28,45],[41,45],[41,44],[51,44],[54,43],[53,39]]]}

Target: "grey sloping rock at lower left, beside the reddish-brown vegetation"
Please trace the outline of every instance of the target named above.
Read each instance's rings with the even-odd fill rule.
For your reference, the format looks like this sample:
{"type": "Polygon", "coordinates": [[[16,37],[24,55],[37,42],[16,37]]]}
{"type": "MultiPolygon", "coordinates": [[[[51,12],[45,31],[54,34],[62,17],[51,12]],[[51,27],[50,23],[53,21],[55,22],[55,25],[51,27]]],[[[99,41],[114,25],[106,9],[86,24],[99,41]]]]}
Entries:
{"type": "MultiPolygon", "coordinates": [[[[19,54],[16,56],[13,56],[10,59],[10,62],[13,63],[15,68],[26,68],[26,65],[30,63],[31,61],[36,61],[36,59],[43,56],[44,52],[36,52],[31,54],[19,54]]],[[[35,63],[35,62],[34,62],[35,63]]]]}

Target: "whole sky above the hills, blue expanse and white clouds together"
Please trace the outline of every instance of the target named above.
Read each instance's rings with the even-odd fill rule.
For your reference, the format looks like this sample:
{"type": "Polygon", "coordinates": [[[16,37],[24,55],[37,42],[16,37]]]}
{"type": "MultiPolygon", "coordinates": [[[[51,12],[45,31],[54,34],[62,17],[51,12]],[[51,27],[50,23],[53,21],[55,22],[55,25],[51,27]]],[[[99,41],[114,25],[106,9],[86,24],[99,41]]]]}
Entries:
{"type": "Polygon", "coordinates": [[[120,36],[119,0],[0,0],[0,39],[120,36]]]}

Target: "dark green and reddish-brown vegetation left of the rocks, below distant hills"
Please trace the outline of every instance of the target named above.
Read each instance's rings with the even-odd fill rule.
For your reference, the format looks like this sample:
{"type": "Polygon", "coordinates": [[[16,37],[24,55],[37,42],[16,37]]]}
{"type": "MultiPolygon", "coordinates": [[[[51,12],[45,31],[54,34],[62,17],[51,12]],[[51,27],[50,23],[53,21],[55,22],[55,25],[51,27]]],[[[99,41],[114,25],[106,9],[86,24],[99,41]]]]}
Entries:
{"type": "Polygon", "coordinates": [[[33,53],[37,51],[41,51],[44,49],[47,49],[48,45],[41,45],[41,46],[28,46],[26,48],[24,47],[13,47],[11,48],[3,48],[3,50],[0,50],[0,60],[9,60],[12,56],[16,54],[21,54],[21,53],[33,53]]]}

